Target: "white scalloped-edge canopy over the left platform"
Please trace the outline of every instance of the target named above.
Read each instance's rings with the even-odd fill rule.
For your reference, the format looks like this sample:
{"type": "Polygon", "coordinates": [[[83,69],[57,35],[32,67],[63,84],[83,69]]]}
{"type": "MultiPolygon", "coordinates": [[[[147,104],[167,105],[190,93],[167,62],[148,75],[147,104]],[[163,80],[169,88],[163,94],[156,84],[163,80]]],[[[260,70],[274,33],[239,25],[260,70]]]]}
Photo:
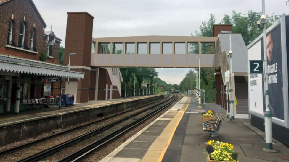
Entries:
{"type": "Polygon", "coordinates": [[[0,71],[40,76],[83,79],[84,73],[70,71],[68,66],[0,54],[0,71]]]}

